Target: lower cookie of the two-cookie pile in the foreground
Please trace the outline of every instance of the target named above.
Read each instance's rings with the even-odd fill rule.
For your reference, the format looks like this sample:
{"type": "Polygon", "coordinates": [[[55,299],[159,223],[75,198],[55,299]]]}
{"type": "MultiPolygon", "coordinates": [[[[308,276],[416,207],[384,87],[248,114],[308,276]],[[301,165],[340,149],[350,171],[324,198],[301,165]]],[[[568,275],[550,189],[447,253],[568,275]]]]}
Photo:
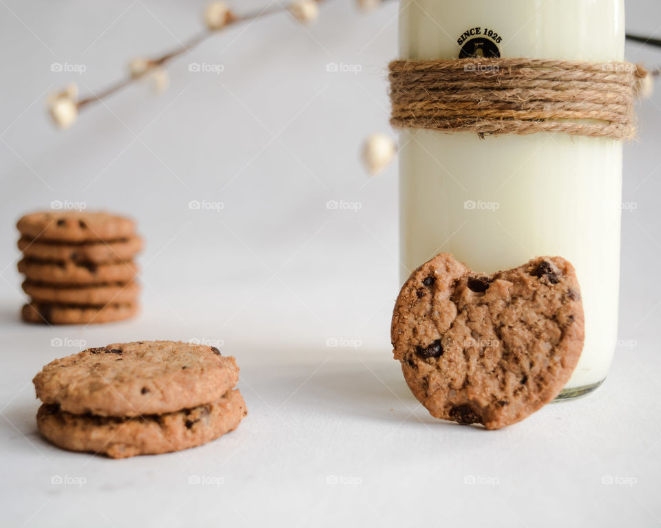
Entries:
{"type": "Polygon", "coordinates": [[[43,404],[36,423],[41,434],[61,448],[123,459],[202,445],[233,431],[246,414],[241,394],[233,390],[202,406],[134,418],[73,415],[43,404]]]}

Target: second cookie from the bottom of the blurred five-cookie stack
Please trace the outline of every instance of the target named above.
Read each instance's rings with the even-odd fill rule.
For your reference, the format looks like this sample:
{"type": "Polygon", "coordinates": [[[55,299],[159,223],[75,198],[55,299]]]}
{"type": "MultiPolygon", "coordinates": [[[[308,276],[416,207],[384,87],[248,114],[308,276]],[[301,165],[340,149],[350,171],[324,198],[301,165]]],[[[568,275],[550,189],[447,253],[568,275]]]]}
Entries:
{"type": "Polygon", "coordinates": [[[127,284],[98,286],[63,286],[23,282],[23,292],[39,303],[61,305],[107,305],[132,304],[140,294],[140,285],[132,281],[127,284]]]}

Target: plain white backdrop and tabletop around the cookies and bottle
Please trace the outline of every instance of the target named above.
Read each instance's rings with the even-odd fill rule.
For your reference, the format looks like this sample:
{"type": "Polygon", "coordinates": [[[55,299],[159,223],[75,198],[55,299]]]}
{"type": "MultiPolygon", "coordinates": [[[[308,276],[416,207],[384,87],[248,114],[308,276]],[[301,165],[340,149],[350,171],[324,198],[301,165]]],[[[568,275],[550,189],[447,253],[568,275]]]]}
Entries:
{"type": "MultiPolygon", "coordinates": [[[[287,15],[233,28],[174,63],[165,94],[138,85],[68,131],[49,122],[47,94],[70,80],[88,94],[129,58],[176,47],[203,5],[0,1],[0,525],[660,525],[661,87],[625,148],[623,201],[635,210],[622,214],[611,375],[594,395],[485,432],[432,419],[392,360],[397,170],[368,179],[358,151],[368,133],[392,134],[395,3],[365,15],[337,0],[310,28],[287,15]],[[51,72],[55,62],[86,70],[51,72]],[[189,72],[193,62],[224,70],[189,72]],[[361,71],[330,73],[331,62],[361,71]],[[223,208],[189,210],[192,199],[223,208]],[[53,200],[137,219],[139,318],[19,321],[14,224],[53,200]],[[361,208],[328,210],[328,200],[361,208]],[[175,454],[58,450],[36,431],[30,382],[76,351],[52,338],[222,340],[242,367],[249,416],[175,454]],[[327,347],[333,338],[355,349],[327,347]]],[[[661,34],[658,2],[629,1],[627,17],[629,31],[661,34]]],[[[661,65],[661,50],[628,45],[627,58],[661,65]]]]}

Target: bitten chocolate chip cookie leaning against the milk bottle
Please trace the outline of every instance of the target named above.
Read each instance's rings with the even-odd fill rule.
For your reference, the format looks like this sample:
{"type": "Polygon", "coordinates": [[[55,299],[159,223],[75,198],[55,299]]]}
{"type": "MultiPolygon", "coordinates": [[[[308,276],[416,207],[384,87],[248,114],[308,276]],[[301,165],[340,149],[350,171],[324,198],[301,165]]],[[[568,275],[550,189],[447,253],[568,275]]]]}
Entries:
{"type": "Polygon", "coordinates": [[[437,418],[499,429],[552,401],[583,349],[574,267],[539,257],[490,276],[441,253],[403,285],[392,347],[437,418]]]}

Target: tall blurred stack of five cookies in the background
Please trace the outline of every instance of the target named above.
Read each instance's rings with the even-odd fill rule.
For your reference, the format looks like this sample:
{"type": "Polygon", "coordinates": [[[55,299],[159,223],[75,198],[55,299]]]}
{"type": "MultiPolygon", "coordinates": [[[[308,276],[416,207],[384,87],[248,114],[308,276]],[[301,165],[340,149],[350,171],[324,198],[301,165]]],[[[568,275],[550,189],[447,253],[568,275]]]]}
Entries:
{"type": "Polygon", "coordinates": [[[23,319],[87,325],[134,316],[140,287],[134,257],[143,247],[132,220],[106,212],[50,211],[17,223],[31,298],[23,319]]]}

